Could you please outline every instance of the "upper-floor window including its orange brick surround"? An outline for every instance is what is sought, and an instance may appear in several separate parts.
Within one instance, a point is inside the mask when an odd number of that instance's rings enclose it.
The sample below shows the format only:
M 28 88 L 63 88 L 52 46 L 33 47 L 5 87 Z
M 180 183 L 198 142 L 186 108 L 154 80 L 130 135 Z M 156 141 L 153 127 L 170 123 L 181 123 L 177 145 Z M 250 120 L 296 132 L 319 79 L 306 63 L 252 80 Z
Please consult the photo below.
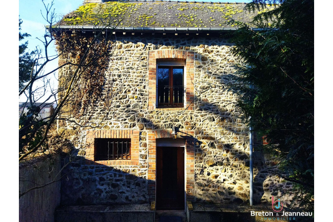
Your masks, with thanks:
M 194 52 L 162 49 L 148 55 L 148 110 L 193 110 Z

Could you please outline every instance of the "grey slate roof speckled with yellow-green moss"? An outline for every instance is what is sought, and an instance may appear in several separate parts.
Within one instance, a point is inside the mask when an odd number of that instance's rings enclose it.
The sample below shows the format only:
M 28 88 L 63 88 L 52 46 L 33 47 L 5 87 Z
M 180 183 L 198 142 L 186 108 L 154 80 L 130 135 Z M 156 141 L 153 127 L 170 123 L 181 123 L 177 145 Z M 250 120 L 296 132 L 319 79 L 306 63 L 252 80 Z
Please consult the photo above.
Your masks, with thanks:
M 250 22 L 255 13 L 245 3 L 196 1 L 105 1 L 85 0 L 57 24 L 62 26 L 118 27 L 217 27 L 236 28 L 231 19 Z

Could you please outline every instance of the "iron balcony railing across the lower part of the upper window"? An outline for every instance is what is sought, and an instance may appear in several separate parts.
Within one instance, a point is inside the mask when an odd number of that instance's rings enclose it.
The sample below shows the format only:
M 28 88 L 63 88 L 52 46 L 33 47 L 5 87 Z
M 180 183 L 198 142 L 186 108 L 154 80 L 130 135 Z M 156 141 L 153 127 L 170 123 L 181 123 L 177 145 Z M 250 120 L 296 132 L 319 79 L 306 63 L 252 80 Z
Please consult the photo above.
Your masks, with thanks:
M 157 87 L 159 107 L 182 107 L 184 105 L 184 86 Z

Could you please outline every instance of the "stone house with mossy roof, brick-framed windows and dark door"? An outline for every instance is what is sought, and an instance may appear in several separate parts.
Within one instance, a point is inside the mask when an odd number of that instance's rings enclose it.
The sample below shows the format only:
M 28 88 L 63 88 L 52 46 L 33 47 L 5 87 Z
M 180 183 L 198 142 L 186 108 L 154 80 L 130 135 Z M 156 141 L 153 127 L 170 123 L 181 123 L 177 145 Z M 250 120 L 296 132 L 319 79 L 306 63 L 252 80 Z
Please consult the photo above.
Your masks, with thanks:
M 62 181 L 63 205 L 249 203 L 249 128 L 235 107 L 237 94 L 228 90 L 237 60 L 229 41 L 236 27 L 228 20 L 250 21 L 243 7 L 85 0 L 65 16 L 62 30 L 90 34 L 98 28 L 92 15 L 122 20 L 112 29 L 115 50 L 101 98 L 63 126 L 75 129 L 77 148 L 84 147 Z M 64 67 L 60 75 L 68 72 Z M 104 106 L 108 92 L 116 93 Z M 254 200 L 270 203 L 291 184 L 269 173 L 272 159 L 254 157 Z

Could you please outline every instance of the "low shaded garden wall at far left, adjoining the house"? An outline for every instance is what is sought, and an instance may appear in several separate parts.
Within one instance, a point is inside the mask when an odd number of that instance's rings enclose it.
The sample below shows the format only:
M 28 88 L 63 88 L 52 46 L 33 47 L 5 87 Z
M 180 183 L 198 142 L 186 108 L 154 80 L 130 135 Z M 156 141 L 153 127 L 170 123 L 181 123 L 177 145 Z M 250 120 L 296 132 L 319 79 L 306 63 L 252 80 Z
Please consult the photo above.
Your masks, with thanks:
M 19 167 L 19 193 L 52 182 L 61 170 L 60 157 Z M 28 192 L 19 198 L 20 222 L 53 222 L 60 204 L 60 177 L 55 183 Z

